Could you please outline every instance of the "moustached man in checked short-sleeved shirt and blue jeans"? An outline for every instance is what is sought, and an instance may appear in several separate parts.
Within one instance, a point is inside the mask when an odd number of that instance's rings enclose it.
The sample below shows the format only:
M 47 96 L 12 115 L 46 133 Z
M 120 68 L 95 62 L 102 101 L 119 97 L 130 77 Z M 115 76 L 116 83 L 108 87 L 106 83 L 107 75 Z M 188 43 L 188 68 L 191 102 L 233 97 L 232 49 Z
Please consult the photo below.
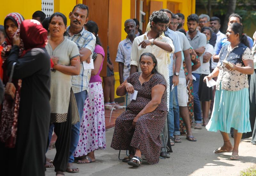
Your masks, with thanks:
M 72 89 L 75 93 L 76 104 L 80 116 L 80 121 L 83 116 L 84 101 L 87 98 L 88 84 L 91 78 L 91 69 L 84 69 L 84 61 L 90 63 L 92 59 L 92 53 L 95 48 L 96 38 L 95 36 L 86 30 L 84 25 L 88 22 L 88 6 L 84 4 L 77 4 L 72 12 L 69 13 L 70 26 L 67 28 L 69 40 L 76 43 L 80 53 L 80 74 L 72 76 Z M 79 140 L 80 122 L 72 125 L 71 128 L 71 143 L 69 150 L 69 160 L 67 166 L 67 172 L 75 173 L 79 172 L 77 167 L 73 166 L 74 152 Z

